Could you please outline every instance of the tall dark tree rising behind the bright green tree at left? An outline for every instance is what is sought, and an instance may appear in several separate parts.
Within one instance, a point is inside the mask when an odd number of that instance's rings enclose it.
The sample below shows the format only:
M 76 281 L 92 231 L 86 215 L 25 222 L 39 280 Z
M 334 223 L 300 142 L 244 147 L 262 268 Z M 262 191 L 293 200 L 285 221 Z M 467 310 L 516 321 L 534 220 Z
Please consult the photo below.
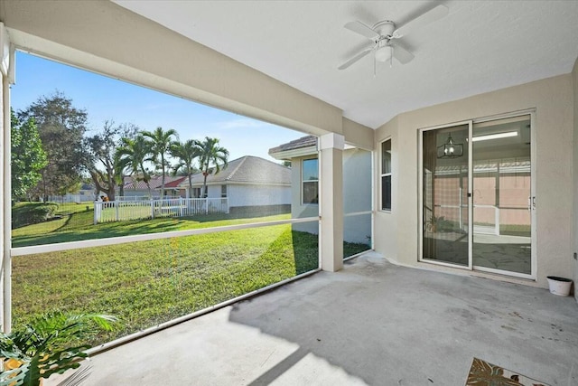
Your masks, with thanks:
M 85 165 L 82 145 L 87 112 L 74 108 L 72 99 L 56 91 L 49 97 L 39 98 L 16 116 L 22 122 L 34 119 L 47 155 L 48 162 L 42 168 L 35 193 L 46 201 L 51 194 L 70 191 L 81 180 Z

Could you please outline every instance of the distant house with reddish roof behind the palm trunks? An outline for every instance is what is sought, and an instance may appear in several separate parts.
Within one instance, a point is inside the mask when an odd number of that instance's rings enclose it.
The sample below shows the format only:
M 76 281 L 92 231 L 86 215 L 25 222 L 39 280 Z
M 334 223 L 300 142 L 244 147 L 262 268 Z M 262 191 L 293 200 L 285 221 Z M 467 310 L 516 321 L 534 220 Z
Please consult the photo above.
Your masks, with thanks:
M 164 176 L 164 195 L 169 197 L 175 196 L 182 196 L 185 197 L 185 192 L 179 187 L 179 184 L 182 181 L 186 180 L 186 176 Z M 154 175 L 151 177 L 151 180 L 148 182 L 151 190 L 149 192 L 149 187 L 144 183 L 144 181 L 131 176 L 125 177 L 125 186 L 124 186 L 124 197 L 131 198 L 131 199 L 145 199 L 148 200 L 149 194 L 153 196 L 153 198 L 159 198 L 161 195 L 161 188 L 163 186 L 163 177 L 161 175 Z M 118 190 L 117 190 L 118 195 Z

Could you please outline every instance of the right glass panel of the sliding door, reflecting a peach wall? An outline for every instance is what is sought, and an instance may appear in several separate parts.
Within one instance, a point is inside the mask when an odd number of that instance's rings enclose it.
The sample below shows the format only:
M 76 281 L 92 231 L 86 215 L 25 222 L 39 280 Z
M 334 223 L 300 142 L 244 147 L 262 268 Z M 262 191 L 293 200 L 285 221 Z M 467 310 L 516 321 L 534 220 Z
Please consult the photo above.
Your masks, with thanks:
M 474 123 L 475 268 L 532 274 L 530 116 Z

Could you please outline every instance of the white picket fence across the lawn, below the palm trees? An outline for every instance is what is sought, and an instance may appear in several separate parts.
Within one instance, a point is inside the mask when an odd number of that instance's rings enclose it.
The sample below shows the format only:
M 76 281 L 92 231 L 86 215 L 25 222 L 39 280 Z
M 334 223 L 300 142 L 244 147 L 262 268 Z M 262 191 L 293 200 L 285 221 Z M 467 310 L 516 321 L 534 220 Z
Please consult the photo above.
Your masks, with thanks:
M 189 217 L 199 214 L 228 213 L 227 198 L 172 198 L 140 201 L 96 201 L 94 223 Z

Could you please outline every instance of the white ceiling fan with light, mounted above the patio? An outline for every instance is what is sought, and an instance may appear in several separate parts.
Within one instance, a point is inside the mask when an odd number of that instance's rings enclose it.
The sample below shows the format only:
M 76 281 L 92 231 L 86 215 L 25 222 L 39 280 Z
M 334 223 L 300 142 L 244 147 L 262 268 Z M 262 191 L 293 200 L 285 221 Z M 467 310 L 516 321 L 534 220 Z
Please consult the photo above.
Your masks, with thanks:
M 445 5 L 437 5 L 433 9 L 420 14 L 415 17 L 415 19 L 410 20 L 406 24 L 396 29 L 396 24 L 390 20 L 383 20 L 374 24 L 373 27 L 368 27 L 368 25 L 361 22 L 355 21 L 345 24 L 344 27 L 354 33 L 359 33 L 367 37 L 373 43 L 359 52 L 349 61 L 341 64 L 338 67 L 339 70 L 345 70 L 350 67 L 351 64 L 359 61 L 364 56 L 368 55 L 369 52 L 374 52 L 374 65 L 375 61 L 392 61 L 392 58 L 396 58 L 397 61 L 402 64 L 414 59 L 414 54 L 407 51 L 401 45 L 396 43 L 396 39 L 400 39 L 407 33 L 418 30 L 427 24 L 433 23 L 434 21 L 443 18 L 449 12 L 448 7 Z M 375 69 L 375 67 L 374 67 Z

